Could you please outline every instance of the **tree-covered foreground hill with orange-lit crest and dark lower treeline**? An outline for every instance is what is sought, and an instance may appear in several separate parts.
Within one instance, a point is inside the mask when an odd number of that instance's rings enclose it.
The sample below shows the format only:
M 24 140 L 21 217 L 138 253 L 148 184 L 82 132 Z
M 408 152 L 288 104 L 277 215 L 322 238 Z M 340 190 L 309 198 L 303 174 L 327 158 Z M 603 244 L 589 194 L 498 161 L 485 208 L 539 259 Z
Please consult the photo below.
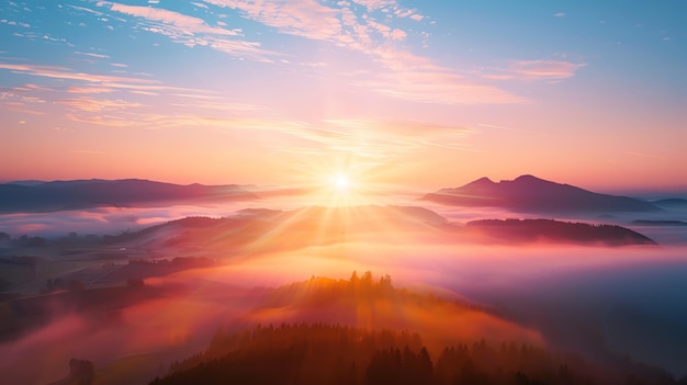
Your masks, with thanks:
M 549 351 L 523 341 L 522 329 L 498 337 L 495 324 L 475 329 L 480 321 L 464 315 L 482 310 L 395 288 L 390 276 L 379 283 L 369 273 L 349 281 L 313 278 L 266 294 L 269 301 L 256 312 L 303 312 L 307 306 L 318 317 L 217 331 L 207 349 L 172 363 L 166 376 L 150 384 L 676 384 L 660 369 L 612 354 L 592 362 Z M 386 312 L 413 322 L 319 320 L 340 307 L 358 314 Z M 437 327 L 444 317 L 454 327 Z M 452 336 L 460 329 L 472 332 Z M 431 333 L 436 336 L 426 338 Z

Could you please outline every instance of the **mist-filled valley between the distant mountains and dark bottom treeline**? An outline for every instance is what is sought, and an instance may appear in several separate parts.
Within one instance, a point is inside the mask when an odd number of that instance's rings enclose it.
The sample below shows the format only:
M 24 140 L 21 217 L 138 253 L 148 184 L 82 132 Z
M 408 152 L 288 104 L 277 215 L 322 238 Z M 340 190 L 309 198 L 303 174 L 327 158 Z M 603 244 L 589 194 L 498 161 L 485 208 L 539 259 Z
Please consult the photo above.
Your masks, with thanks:
M 644 225 L 646 237 L 631 226 L 637 213 L 542 217 L 401 195 L 294 207 L 281 199 L 3 215 L 13 234 L 1 249 L 2 372 L 12 383 L 76 381 L 77 359 L 92 365 L 94 384 L 146 384 L 194 367 L 179 363 L 211 354 L 217 332 L 339 325 L 417 333 L 433 364 L 451 346 L 514 343 L 544 349 L 559 366 L 578 356 L 600 367 L 584 374 L 596 382 L 687 374 L 679 226 Z M 369 369 L 372 352 L 361 354 Z M 370 383 L 365 373 L 357 381 Z M 530 380 L 555 382 L 542 373 Z

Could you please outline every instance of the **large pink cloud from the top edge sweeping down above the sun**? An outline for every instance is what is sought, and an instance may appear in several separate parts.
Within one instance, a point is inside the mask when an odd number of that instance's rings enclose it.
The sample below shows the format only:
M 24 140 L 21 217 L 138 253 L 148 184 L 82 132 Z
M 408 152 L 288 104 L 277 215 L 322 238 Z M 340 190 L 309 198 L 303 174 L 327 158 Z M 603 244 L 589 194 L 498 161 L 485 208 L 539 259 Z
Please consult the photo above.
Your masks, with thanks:
M 436 65 L 397 44 L 408 33 L 391 27 L 371 14 L 357 14 L 352 4 L 339 1 L 340 8 L 306 1 L 205 0 L 207 3 L 236 9 L 244 16 L 278 29 L 280 33 L 329 42 L 367 55 L 380 66 L 376 70 L 353 77 L 351 83 L 386 97 L 441 104 L 516 103 L 522 98 L 496 87 L 469 81 L 451 69 Z M 388 9 L 390 14 L 421 20 L 393 0 L 356 1 L 368 12 Z

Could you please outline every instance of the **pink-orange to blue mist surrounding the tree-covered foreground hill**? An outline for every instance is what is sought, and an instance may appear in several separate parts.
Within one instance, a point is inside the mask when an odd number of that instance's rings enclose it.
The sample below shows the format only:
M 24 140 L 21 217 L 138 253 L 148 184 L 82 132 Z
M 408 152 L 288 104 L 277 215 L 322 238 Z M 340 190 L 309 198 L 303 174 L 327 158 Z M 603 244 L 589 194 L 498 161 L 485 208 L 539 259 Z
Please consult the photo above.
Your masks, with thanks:
M 687 373 L 686 248 L 465 247 L 417 239 L 251 254 L 212 269 L 149 279 L 146 286 L 166 288 L 165 295 L 114 315 L 55 318 L 0 346 L 0 355 L 7 358 L 1 371 L 13 383 L 40 384 L 65 376 L 69 359 L 76 356 L 91 360 L 120 383 L 140 375 L 151 378 L 164 374 L 171 361 L 204 349 L 218 329 L 331 321 L 331 314 L 291 305 L 259 317 L 255 312 L 266 287 L 313 275 L 348 279 L 353 271 L 372 271 L 375 279 L 390 274 L 395 287 L 470 304 L 506 322 L 496 328 L 500 324 L 494 318 L 491 329 L 474 329 L 488 326 L 485 318 L 415 317 L 415 324 L 404 327 L 429 325 L 447 336 L 473 328 L 475 338 L 487 339 L 506 339 L 508 332 L 514 340 L 538 335 L 551 349 L 597 359 L 608 350 L 676 376 Z M 354 326 L 370 326 L 362 316 L 349 322 L 356 319 L 362 325 Z

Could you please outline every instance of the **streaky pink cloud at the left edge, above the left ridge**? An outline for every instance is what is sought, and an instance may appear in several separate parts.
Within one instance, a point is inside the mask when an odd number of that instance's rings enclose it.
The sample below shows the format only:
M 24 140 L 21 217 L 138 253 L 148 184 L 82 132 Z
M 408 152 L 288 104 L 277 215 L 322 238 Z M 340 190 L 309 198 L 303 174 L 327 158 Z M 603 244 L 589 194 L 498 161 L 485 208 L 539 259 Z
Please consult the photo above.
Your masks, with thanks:
M 29 64 L 0 63 L 0 70 L 59 80 L 7 89 L 0 93 L 0 109 L 29 114 L 45 114 L 49 110 L 70 121 L 103 126 L 164 128 L 191 123 L 212 126 L 210 120 L 180 118 L 180 115 L 202 109 L 239 116 L 258 110 L 255 105 L 236 103 L 210 91 L 170 87 L 147 77 L 86 73 L 65 67 Z M 70 80 L 72 86 L 65 87 L 63 80 Z M 105 94 L 110 97 L 103 98 Z M 160 111 L 160 97 L 177 109 L 176 115 L 165 115 Z M 174 118 L 179 122 L 173 122 Z

